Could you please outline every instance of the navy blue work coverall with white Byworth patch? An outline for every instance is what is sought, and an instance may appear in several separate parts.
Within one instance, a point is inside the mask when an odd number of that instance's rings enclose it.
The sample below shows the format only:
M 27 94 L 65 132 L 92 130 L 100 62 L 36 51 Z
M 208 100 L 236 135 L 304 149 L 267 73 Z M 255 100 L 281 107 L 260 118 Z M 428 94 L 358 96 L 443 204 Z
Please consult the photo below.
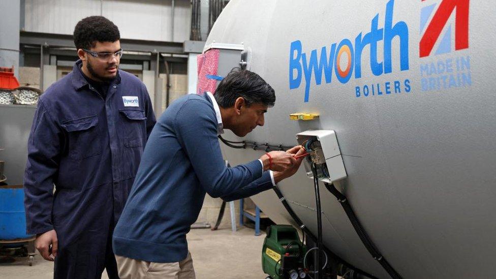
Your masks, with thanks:
M 24 175 L 28 234 L 55 229 L 54 278 L 118 278 L 112 232 L 156 119 L 145 85 L 118 71 L 106 94 L 73 71 L 41 96 Z M 53 187 L 55 186 L 55 193 Z

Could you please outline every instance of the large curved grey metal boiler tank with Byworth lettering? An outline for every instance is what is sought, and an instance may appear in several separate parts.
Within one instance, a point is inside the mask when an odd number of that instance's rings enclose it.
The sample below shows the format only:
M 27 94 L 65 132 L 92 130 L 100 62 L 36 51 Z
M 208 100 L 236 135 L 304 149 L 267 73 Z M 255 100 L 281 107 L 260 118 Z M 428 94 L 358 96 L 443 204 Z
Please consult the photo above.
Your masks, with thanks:
M 338 189 L 402 277 L 490 278 L 496 274 L 494 14 L 496 2 L 476 0 L 232 0 L 207 45 L 242 43 L 249 69 L 275 89 L 265 126 L 245 139 L 296 145 L 302 131 L 335 131 L 348 174 Z M 295 112 L 320 118 L 290 120 Z M 222 148 L 231 165 L 262 154 Z M 301 168 L 279 187 L 316 234 L 312 179 Z M 387 278 L 322 183 L 320 193 L 324 244 Z M 253 200 L 273 221 L 291 223 L 273 191 Z

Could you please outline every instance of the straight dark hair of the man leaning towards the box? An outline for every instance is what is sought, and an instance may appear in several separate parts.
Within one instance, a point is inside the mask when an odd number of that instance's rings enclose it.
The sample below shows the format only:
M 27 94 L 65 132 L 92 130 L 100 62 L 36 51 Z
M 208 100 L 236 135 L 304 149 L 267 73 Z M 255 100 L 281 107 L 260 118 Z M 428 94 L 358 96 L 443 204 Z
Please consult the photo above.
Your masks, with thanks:
M 264 104 L 272 107 L 275 92 L 259 75 L 248 70 L 234 68 L 215 89 L 215 100 L 222 108 L 230 108 L 242 97 L 247 106 Z

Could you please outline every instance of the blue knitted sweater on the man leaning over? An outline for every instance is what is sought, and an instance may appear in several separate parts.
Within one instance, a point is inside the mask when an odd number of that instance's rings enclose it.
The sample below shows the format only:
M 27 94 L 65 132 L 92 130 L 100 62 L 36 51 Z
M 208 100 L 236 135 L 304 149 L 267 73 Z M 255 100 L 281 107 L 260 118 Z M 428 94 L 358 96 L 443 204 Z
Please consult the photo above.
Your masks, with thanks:
M 272 187 L 268 171 L 254 160 L 227 168 L 217 138 L 210 98 L 175 101 L 153 128 L 126 206 L 113 234 L 114 253 L 149 262 L 186 258 L 186 234 L 205 194 L 235 200 Z

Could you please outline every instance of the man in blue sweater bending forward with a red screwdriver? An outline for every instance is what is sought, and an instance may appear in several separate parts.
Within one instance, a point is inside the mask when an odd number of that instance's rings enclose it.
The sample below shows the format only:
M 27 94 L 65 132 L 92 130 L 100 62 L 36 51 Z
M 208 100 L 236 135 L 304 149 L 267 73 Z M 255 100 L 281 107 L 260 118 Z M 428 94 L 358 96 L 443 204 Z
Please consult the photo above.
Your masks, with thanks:
M 303 158 L 295 155 L 305 152 L 299 145 L 234 168 L 223 160 L 217 137 L 223 129 L 245 136 L 264 125 L 274 103 L 272 87 L 241 70 L 226 76 L 215 97 L 187 95 L 167 108 L 150 134 L 113 234 L 121 279 L 195 278 L 186 234 L 205 194 L 226 201 L 249 197 L 298 170 Z

